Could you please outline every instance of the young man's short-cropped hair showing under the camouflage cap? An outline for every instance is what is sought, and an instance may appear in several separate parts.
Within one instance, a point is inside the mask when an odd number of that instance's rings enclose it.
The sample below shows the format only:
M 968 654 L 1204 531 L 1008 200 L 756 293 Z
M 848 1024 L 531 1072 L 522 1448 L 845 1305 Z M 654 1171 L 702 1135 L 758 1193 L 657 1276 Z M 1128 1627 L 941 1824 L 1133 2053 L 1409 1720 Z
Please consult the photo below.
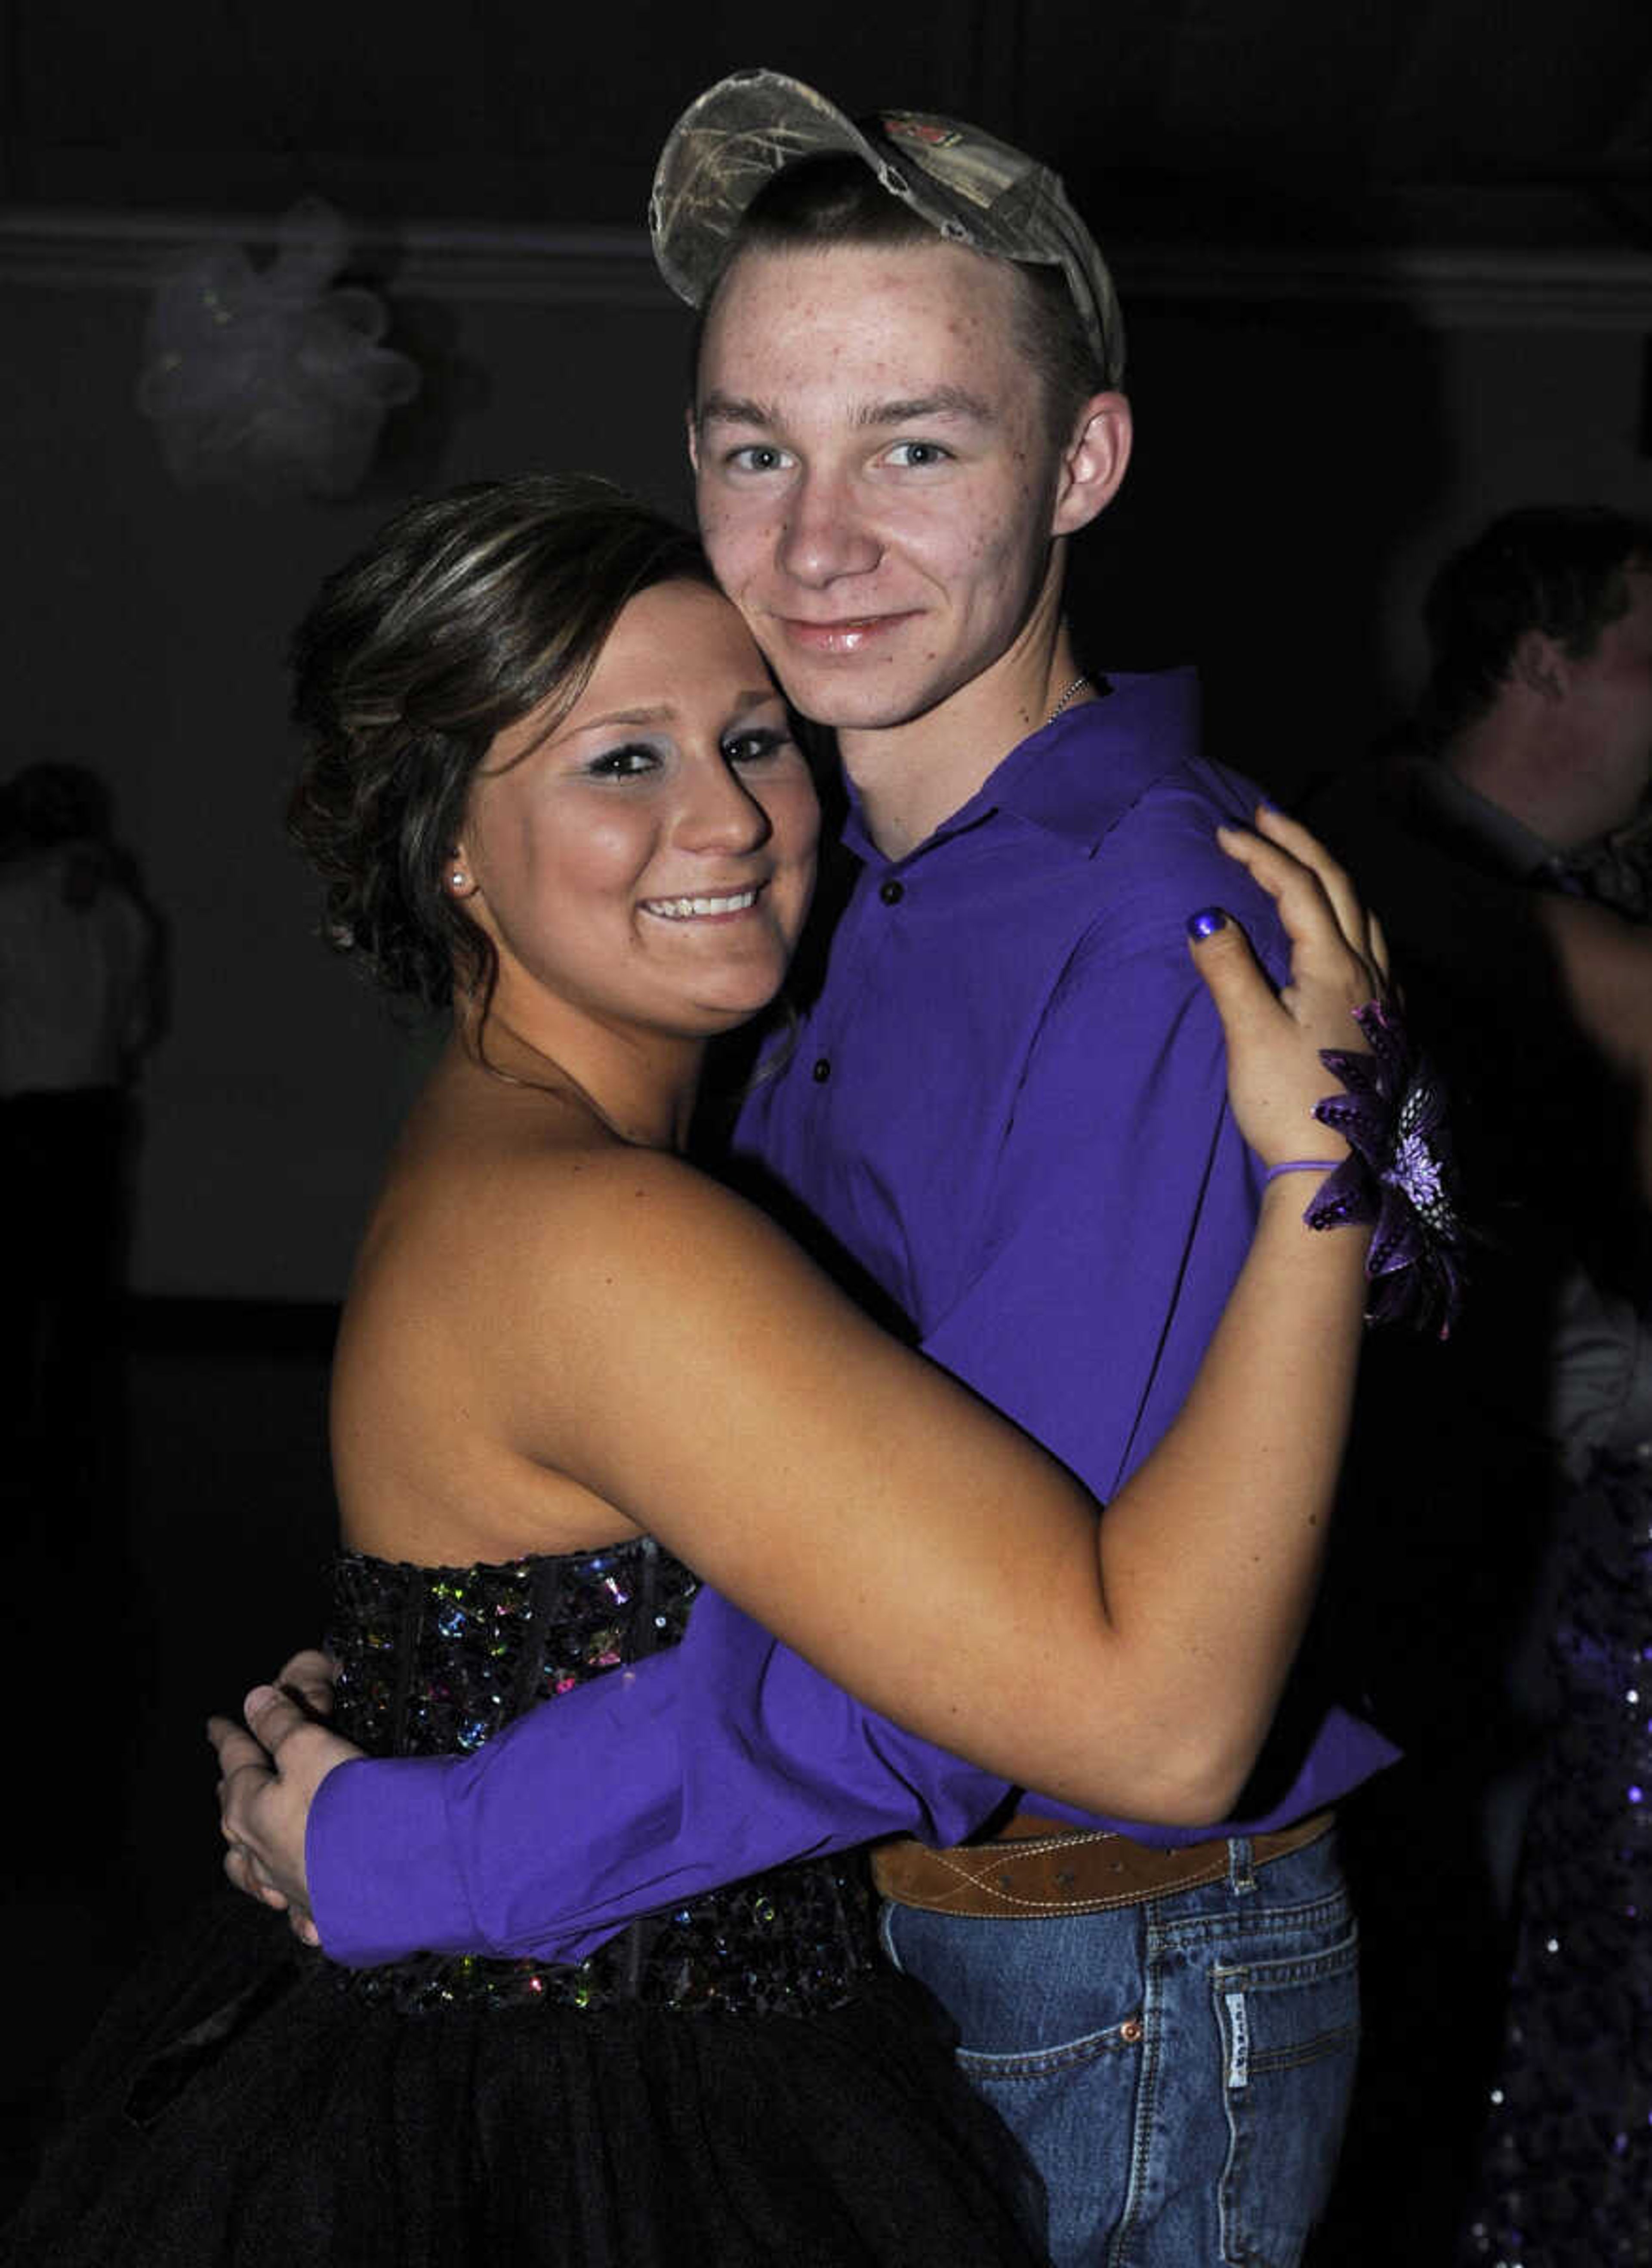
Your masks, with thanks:
M 860 159 L 810 156 L 776 172 L 751 200 L 728 247 L 717 290 L 742 252 L 937 243 L 942 243 L 937 231 L 910 204 L 880 188 Z M 989 259 L 989 254 L 976 256 Z M 1107 374 L 1078 320 L 1062 270 L 1035 261 L 1003 261 L 1003 265 L 1017 279 L 1017 347 L 1039 374 L 1051 440 L 1064 447 L 1080 406 L 1107 390 Z M 694 324 L 694 372 L 717 290 Z

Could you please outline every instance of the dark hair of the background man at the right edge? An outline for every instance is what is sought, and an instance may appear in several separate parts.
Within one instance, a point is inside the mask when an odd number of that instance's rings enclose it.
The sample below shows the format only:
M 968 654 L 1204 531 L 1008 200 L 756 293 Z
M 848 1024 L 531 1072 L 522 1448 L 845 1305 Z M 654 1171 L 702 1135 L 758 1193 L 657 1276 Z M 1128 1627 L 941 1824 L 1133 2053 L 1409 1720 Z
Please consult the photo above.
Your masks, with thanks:
M 1527 631 L 1582 660 L 1629 610 L 1629 569 L 1652 569 L 1652 522 L 1593 503 L 1532 503 L 1493 519 L 1434 576 L 1423 601 L 1430 680 L 1423 726 L 1439 744 L 1493 705 Z

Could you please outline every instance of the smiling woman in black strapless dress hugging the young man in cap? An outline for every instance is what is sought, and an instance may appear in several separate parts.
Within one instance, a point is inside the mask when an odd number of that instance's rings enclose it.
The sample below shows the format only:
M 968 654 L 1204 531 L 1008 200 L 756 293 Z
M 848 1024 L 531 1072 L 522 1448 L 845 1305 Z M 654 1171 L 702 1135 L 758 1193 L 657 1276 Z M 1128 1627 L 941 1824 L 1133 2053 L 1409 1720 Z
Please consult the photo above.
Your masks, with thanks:
M 817 830 L 692 540 L 590 481 L 415 506 L 304 621 L 297 717 L 336 941 L 454 1012 L 338 1345 L 340 1730 L 474 1746 L 669 1644 L 701 1576 L 1017 1783 L 1219 1814 L 1312 1597 L 1364 1234 L 1268 1186 L 1182 1417 L 1098 1522 L 681 1157 L 708 1039 L 781 991 Z M 1234 1109 L 1264 1161 L 1330 1159 L 1318 1050 L 1359 1046 L 1380 955 L 1334 869 L 1232 850 L 1293 941 L 1278 1000 L 1232 928 L 1194 948 Z M 340 1971 L 225 1903 L 104 2025 L 14 2257 L 1037 2257 L 851 1860 L 579 1969 Z

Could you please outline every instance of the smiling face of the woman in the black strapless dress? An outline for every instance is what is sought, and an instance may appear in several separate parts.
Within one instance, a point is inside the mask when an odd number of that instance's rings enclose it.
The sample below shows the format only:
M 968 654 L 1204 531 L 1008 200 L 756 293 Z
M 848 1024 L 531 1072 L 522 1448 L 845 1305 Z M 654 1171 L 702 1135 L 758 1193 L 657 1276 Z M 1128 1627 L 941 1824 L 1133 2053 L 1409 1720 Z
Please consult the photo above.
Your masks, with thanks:
M 524 1030 L 572 1005 L 703 1039 L 767 1007 L 815 875 L 803 751 L 740 615 L 706 583 L 620 612 L 560 719 L 497 737 L 470 798 L 467 912 Z

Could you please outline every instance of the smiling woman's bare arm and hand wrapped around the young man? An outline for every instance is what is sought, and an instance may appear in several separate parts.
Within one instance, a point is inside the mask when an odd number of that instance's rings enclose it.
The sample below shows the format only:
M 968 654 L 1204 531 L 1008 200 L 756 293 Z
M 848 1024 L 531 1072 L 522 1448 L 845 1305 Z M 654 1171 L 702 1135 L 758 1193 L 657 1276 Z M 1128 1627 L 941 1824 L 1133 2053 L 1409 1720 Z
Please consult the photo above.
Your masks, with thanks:
M 1309 1109 L 1318 1048 L 1359 1046 L 1364 923 L 1352 950 L 1312 869 L 1244 857 L 1296 964 L 1275 1000 L 1237 930 L 1194 948 L 1234 1105 L 1264 1157 L 1332 1157 Z M 658 1154 L 563 1182 L 526 1241 L 502 1191 L 526 1329 L 488 1424 L 924 1737 L 1078 1803 L 1216 1817 L 1312 1599 L 1359 1338 L 1362 1236 L 1307 1232 L 1312 1186 L 1271 1188 L 1198 1388 L 1101 1529 L 1044 1452 Z

